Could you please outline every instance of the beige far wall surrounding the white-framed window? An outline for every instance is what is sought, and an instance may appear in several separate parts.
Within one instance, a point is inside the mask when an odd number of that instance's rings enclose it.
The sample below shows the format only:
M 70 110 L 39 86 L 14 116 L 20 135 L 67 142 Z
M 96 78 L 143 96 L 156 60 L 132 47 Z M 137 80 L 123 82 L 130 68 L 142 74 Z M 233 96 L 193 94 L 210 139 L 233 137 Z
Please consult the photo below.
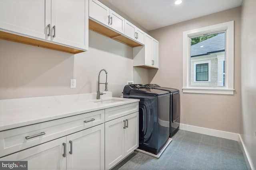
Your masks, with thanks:
M 241 43 L 240 7 L 150 31 L 159 41 L 159 69 L 149 71 L 149 81 L 180 90 L 180 123 L 240 133 Z M 182 93 L 183 31 L 234 20 L 234 95 Z

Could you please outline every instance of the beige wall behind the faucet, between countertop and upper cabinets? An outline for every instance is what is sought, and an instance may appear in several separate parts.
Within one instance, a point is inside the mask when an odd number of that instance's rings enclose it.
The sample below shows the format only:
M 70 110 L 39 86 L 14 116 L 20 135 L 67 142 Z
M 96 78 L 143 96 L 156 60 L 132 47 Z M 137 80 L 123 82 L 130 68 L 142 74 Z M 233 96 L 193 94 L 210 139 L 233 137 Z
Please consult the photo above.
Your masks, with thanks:
M 102 68 L 108 71 L 108 90 L 120 97 L 134 76 L 147 83 L 148 72 L 133 69 L 132 62 L 131 47 L 93 31 L 89 50 L 76 55 L 0 40 L 0 99 L 96 92 Z M 70 88 L 70 79 L 76 79 L 76 88 Z

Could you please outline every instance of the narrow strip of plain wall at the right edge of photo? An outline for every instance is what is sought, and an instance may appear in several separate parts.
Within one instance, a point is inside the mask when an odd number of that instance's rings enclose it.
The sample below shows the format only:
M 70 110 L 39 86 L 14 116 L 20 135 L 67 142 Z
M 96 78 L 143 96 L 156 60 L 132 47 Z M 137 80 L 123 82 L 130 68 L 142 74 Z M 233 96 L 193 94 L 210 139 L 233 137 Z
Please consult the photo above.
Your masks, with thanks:
M 242 114 L 241 137 L 256 169 L 256 0 L 242 4 Z

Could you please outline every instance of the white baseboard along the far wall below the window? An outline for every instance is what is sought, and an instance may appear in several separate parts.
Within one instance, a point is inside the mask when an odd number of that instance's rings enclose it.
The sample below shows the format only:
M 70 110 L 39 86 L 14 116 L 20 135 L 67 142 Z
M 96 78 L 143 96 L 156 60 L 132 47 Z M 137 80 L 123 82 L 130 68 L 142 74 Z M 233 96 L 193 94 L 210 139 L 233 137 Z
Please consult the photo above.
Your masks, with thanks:
M 192 125 L 185 125 L 182 123 L 180 123 L 180 129 L 185 130 L 185 131 L 201 133 L 204 135 L 210 135 L 210 136 L 215 136 L 215 137 L 221 137 L 224 139 L 231 139 L 234 141 L 239 141 L 238 133 L 219 131 L 219 130 L 215 130 L 215 129 L 208 129 L 208 128 L 192 126 Z

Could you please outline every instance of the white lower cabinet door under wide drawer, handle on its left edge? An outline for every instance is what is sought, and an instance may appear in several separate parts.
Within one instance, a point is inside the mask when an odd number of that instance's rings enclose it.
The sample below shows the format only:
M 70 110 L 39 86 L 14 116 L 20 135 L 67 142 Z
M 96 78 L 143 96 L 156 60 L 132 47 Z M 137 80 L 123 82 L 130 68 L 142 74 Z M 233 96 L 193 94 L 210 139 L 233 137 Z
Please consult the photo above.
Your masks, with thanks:
M 68 135 L 68 170 L 104 170 L 104 124 Z

